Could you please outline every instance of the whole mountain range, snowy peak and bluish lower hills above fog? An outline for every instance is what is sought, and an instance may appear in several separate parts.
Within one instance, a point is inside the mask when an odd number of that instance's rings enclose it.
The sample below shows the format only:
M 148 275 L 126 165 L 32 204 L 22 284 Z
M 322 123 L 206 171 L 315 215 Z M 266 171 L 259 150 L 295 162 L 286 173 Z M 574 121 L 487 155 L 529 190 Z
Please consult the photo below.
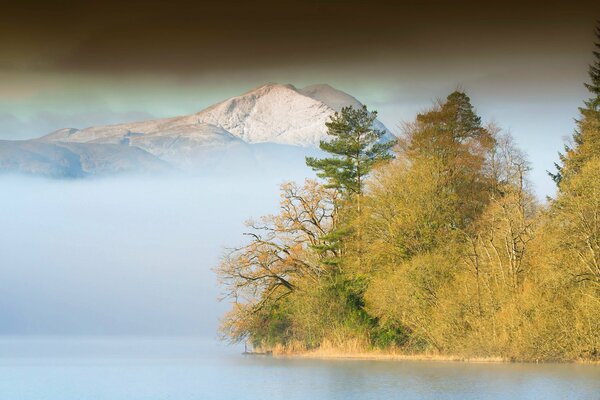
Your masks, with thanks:
M 0 171 L 47 176 L 194 171 L 227 168 L 232 160 L 272 167 L 267 144 L 285 145 L 282 153 L 302 153 L 294 147 L 310 151 L 327 138 L 325 122 L 348 105 L 361 103 L 326 84 L 297 89 L 269 83 L 192 115 L 0 141 Z M 376 127 L 387 131 L 379 121 Z

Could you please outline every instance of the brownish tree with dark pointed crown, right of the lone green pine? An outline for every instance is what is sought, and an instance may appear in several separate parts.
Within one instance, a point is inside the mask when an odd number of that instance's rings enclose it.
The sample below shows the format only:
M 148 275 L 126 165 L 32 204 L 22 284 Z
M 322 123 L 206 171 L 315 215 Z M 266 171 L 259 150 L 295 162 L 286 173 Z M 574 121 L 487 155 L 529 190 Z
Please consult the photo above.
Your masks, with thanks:
M 486 160 L 495 145 L 494 133 L 482 125 L 469 96 L 460 91 L 417 115 L 401 141 L 410 165 L 435 168 L 443 193 L 457 199 L 456 214 L 448 222 L 460 229 L 477 218 L 489 200 L 493 182 L 486 174 Z

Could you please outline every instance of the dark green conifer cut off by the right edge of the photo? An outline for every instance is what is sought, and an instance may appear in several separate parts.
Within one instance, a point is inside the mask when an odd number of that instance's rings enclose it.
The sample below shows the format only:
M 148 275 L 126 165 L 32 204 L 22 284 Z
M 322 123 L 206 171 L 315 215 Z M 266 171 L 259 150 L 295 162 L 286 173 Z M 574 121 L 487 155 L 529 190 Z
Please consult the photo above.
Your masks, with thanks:
M 557 172 L 549 173 L 559 188 L 561 182 L 577 174 L 587 161 L 600 154 L 600 23 L 596 27 L 596 38 L 594 61 L 588 71 L 590 83 L 584 84 L 592 96 L 579 108 L 581 116 L 576 121 L 572 146 L 565 146 L 565 152 L 559 154 L 560 162 L 554 164 Z

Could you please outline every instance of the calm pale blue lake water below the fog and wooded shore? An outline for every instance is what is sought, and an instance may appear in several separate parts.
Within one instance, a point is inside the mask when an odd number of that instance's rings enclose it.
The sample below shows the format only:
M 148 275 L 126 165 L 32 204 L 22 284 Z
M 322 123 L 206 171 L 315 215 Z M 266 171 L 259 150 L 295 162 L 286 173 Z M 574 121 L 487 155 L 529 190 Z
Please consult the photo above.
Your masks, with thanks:
M 0 399 L 600 399 L 600 366 L 244 357 L 211 340 L 0 339 Z

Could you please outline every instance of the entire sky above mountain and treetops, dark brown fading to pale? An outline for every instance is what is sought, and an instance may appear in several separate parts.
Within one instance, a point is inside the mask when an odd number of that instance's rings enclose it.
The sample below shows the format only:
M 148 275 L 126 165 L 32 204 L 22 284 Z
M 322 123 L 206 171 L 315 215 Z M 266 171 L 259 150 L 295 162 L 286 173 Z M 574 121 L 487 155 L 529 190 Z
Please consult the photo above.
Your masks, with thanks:
M 398 131 L 457 87 L 529 154 L 574 129 L 600 1 L 45 1 L 0 9 L 0 139 L 197 112 L 328 83 Z

